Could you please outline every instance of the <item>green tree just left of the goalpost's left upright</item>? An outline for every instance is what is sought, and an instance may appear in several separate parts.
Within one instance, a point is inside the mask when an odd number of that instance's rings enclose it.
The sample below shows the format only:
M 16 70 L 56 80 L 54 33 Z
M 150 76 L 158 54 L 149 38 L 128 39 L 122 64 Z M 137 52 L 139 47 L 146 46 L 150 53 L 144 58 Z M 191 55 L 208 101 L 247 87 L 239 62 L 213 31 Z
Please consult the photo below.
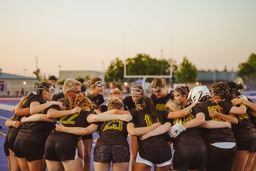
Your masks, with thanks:
M 124 80 L 124 64 L 119 58 L 112 61 L 107 69 L 105 79 L 106 82 L 110 81 L 123 81 Z

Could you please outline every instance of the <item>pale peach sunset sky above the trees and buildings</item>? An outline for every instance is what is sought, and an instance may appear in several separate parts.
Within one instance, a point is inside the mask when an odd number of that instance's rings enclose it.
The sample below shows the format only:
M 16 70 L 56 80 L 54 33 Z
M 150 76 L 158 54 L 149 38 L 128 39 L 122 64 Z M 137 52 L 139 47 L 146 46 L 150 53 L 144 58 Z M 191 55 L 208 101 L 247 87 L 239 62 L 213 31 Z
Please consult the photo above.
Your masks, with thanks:
M 237 70 L 256 53 L 255 0 L 0 0 L 0 68 L 105 70 L 138 53 L 197 69 Z M 124 53 L 124 34 L 125 48 Z M 172 37 L 172 39 L 171 39 Z M 172 45 L 171 45 L 172 40 Z

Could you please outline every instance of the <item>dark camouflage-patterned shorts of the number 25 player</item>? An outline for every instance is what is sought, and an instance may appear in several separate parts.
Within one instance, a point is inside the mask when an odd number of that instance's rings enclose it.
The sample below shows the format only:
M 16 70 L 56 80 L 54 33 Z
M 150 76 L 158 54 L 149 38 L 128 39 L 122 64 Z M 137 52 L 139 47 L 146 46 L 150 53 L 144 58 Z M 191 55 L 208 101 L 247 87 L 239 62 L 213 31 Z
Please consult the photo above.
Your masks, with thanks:
M 123 163 L 130 161 L 130 150 L 123 145 L 102 145 L 94 149 L 94 162 Z

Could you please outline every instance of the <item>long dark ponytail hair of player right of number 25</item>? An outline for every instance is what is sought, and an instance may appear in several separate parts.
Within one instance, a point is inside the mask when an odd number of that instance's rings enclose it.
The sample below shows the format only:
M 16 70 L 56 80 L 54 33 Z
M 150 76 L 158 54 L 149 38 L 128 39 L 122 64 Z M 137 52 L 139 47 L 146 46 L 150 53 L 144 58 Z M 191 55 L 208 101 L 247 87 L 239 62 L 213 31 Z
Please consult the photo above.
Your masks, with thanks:
M 157 109 L 150 97 L 140 96 L 136 102 L 136 104 L 143 104 L 141 107 L 146 113 L 150 114 L 150 122 L 152 124 L 159 122 L 157 119 Z

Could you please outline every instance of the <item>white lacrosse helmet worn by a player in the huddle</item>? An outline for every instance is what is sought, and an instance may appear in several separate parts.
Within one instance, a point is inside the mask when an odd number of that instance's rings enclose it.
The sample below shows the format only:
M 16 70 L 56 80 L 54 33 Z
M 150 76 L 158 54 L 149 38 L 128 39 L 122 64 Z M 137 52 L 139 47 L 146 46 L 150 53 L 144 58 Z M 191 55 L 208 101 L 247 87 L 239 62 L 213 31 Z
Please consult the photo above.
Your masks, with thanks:
M 190 90 L 189 96 L 187 98 L 188 102 L 200 102 L 201 100 L 206 101 L 210 98 L 211 93 L 207 86 L 197 86 Z

